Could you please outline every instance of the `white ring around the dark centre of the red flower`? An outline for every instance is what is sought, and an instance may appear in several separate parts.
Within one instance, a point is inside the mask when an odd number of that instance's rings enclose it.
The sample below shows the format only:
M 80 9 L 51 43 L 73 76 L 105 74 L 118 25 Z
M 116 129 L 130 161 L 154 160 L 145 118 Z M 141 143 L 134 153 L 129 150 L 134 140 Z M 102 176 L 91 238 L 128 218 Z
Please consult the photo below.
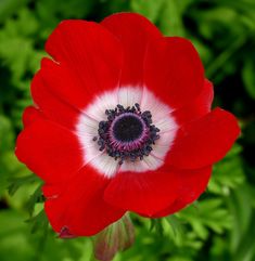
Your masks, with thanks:
M 106 120 L 105 109 L 114 109 L 117 104 L 124 107 L 140 104 L 141 112 L 150 110 L 153 125 L 161 131 L 161 138 L 152 146 L 153 151 L 142 160 L 118 160 L 109 156 L 106 152 L 100 152 L 99 145 L 93 141 L 98 136 L 99 122 Z M 103 92 L 89 104 L 80 114 L 76 126 L 76 134 L 80 143 L 85 165 L 89 164 L 100 174 L 113 178 L 118 171 L 145 172 L 156 170 L 164 165 L 166 154 L 170 149 L 176 136 L 178 125 L 170 116 L 173 109 L 162 103 L 151 91 L 141 87 L 122 87 L 113 91 Z

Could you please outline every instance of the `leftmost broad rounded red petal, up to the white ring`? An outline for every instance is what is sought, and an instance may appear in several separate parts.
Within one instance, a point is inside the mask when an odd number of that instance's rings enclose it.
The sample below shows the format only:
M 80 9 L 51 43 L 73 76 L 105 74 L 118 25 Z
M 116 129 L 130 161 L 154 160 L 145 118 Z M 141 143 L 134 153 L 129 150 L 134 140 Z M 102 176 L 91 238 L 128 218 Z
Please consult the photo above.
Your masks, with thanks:
M 15 154 L 49 183 L 68 180 L 84 164 L 77 138 L 48 120 L 37 120 L 18 135 Z

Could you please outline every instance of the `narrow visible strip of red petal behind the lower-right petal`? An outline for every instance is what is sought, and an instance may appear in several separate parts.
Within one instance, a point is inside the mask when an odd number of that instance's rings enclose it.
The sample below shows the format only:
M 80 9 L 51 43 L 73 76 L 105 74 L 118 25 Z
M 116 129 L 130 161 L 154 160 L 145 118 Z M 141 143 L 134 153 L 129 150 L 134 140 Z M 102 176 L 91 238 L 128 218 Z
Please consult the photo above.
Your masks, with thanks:
M 183 171 L 181 174 L 182 187 L 179 192 L 180 196 L 166 209 L 155 213 L 153 218 L 162 218 L 173 214 L 196 200 L 206 190 L 211 173 L 212 167 L 205 167 L 203 169 L 192 171 L 188 170 L 186 172 Z

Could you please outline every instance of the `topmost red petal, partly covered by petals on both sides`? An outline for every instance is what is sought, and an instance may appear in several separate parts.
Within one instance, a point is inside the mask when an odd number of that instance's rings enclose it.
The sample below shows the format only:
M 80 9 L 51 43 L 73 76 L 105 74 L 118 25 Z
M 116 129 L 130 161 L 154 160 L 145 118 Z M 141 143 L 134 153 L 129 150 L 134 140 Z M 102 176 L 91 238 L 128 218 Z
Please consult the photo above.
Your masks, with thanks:
M 101 24 L 117 36 L 124 47 L 125 64 L 120 84 L 142 83 L 148 42 L 162 38 L 158 29 L 149 19 L 135 13 L 113 14 Z

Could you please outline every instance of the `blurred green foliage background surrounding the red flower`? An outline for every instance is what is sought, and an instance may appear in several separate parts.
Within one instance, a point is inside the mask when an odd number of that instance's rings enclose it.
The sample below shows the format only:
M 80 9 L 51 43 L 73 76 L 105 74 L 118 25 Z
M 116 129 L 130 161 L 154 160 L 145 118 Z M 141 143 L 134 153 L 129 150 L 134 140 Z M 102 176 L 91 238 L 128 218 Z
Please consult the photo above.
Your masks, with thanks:
M 52 29 L 62 19 L 120 11 L 194 43 L 215 83 L 214 106 L 239 117 L 242 136 L 195 205 L 163 220 L 133 214 L 136 244 L 114 260 L 255 261 L 254 0 L 0 0 L 0 260 L 93 260 L 89 238 L 55 238 L 41 211 L 41 183 L 13 152 Z

